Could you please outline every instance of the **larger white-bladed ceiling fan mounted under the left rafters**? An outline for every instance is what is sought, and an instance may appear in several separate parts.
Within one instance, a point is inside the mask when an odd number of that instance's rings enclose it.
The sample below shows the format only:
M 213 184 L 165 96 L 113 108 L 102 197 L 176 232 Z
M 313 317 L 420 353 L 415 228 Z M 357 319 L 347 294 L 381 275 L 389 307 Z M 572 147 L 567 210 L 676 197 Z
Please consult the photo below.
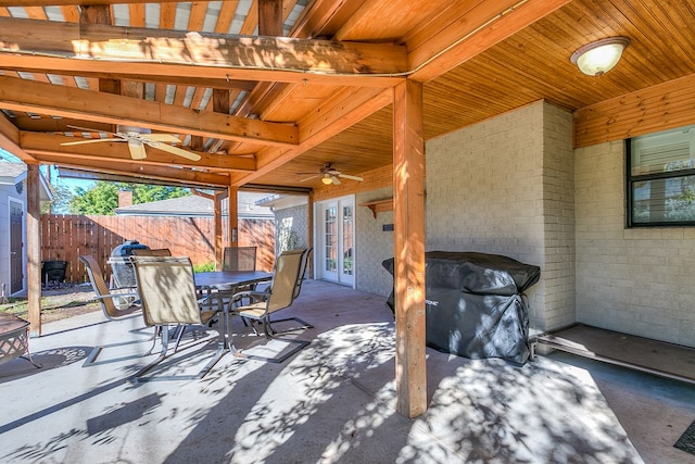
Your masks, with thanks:
M 73 129 L 86 130 L 90 133 L 101 133 L 103 130 L 90 129 L 88 127 L 77 127 L 77 126 L 68 126 Z M 88 139 L 88 140 L 79 140 L 79 141 L 66 141 L 61 143 L 62 146 L 68 145 L 81 145 L 81 143 L 97 143 L 101 141 L 127 141 L 128 149 L 130 150 L 130 158 L 134 160 L 144 160 L 147 158 L 147 152 L 144 151 L 144 146 L 156 148 L 157 150 L 167 151 L 172 154 L 176 154 L 178 156 L 186 158 L 187 160 L 198 161 L 200 160 L 200 154 L 193 153 L 178 147 L 174 147 L 168 143 L 180 143 L 178 137 L 173 136 L 170 134 L 152 134 L 150 129 L 146 129 L 142 127 L 134 127 L 134 126 L 116 126 L 115 133 L 113 134 L 116 138 L 99 138 L 99 139 Z

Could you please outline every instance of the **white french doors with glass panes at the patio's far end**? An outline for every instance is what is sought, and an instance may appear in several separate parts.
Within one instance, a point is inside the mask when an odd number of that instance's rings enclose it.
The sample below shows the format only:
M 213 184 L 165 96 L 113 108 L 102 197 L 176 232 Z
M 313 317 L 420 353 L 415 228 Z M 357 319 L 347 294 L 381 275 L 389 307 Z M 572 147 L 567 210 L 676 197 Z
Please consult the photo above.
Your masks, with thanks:
M 316 204 L 319 278 L 355 285 L 355 198 L 343 197 Z

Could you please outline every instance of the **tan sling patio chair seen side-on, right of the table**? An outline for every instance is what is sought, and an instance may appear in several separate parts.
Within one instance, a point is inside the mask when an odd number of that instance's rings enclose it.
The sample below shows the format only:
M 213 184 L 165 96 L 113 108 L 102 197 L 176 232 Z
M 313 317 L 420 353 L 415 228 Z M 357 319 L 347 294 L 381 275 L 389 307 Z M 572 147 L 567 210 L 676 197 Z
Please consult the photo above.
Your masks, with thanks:
M 298 285 L 301 280 L 300 271 L 302 269 L 302 262 L 306 259 L 308 254 L 308 250 L 306 249 L 298 249 L 291 251 L 282 252 L 277 261 L 275 266 L 275 272 L 273 274 L 273 281 L 270 283 L 270 287 L 266 292 L 250 292 L 250 291 L 241 291 L 233 296 L 232 298 L 232 310 L 229 312 L 230 315 L 239 315 L 242 319 L 256 321 L 263 325 L 263 331 L 268 339 L 280 339 L 277 337 L 277 334 L 270 323 L 270 317 L 287 308 L 292 305 L 294 301 L 295 294 L 299 294 Z M 254 297 L 258 298 L 258 296 L 263 296 L 263 299 L 256 301 L 255 303 L 251 303 L 248 305 L 239 305 L 242 298 L 245 297 Z M 287 317 L 282 319 L 273 321 L 274 323 L 285 322 L 285 321 L 296 321 L 302 324 L 301 327 L 293 328 L 292 330 L 296 330 L 299 328 L 313 328 L 313 326 L 299 317 Z M 227 327 L 229 324 L 227 323 Z M 252 325 L 253 327 L 253 325 Z M 253 330 L 258 335 L 255 327 Z M 286 330 L 289 331 L 289 330 Z M 279 358 L 262 358 L 255 355 L 245 355 L 247 358 L 256 359 L 261 361 L 268 361 L 274 363 L 281 363 L 289 356 L 293 355 L 299 350 L 303 349 L 309 341 L 306 340 L 298 340 L 298 339 L 281 339 L 283 341 L 296 344 L 295 348 L 287 352 L 286 354 Z

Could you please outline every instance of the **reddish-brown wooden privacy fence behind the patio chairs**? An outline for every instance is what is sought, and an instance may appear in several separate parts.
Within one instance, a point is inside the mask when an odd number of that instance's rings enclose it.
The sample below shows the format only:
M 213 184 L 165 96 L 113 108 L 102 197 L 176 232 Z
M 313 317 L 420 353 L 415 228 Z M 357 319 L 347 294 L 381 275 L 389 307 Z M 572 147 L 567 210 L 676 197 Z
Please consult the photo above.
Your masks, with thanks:
M 227 239 L 225 227 L 224 240 Z M 190 256 L 194 265 L 215 262 L 215 221 L 212 217 L 41 215 L 41 261 L 67 261 L 65 281 L 89 280 L 80 254 L 91 254 L 106 279 L 114 248 L 137 240 L 150 248 L 168 248 Z M 256 267 L 273 271 L 275 224 L 271 220 L 239 220 L 239 246 L 257 247 Z

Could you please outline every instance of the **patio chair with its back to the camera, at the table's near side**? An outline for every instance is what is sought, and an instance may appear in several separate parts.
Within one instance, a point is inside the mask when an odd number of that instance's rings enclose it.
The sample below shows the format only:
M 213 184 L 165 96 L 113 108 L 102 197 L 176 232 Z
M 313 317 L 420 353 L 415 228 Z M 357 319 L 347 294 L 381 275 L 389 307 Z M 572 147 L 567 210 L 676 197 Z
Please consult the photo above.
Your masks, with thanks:
M 177 341 L 173 350 L 173 352 L 176 352 L 186 327 L 206 327 L 210 321 L 219 311 L 223 311 L 222 298 L 216 293 L 201 299 L 198 298 L 193 279 L 193 265 L 189 258 L 131 256 L 130 260 L 134 264 L 138 284 L 144 324 L 149 327 L 161 328 L 162 343 L 162 350 L 156 360 L 138 371 L 132 376 L 132 379 L 146 381 L 153 379 L 203 378 L 226 352 L 224 329 L 219 330 L 217 351 L 198 374 L 162 377 L 144 377 L 144 374 L 168 356 L 172 335 L 170 326 L 174 326 L 178 331 Z M 189 344 L 189 347 L 210 339 L 207 337 L 198 340 Z

